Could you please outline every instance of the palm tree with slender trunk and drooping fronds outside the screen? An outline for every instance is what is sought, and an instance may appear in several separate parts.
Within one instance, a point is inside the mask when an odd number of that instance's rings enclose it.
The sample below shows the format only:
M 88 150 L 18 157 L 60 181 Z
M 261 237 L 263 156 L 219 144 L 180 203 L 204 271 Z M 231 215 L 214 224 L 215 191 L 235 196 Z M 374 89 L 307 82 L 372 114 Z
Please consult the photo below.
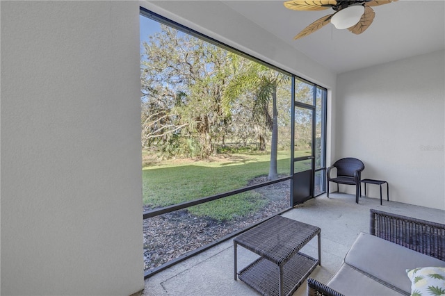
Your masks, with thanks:
M 223 92 L 223 110 L 229 115 L 233 101 L 243 94 L 253 94 L 252 117 L 254 121 L 264 126 L 264 129 L 272 131 L 268 180 L 277 179 L 277 88 L 281 83 L 289 81 L 289 77 L 252 60 L 241 59 L 235 55 L 229 55 L 229 58 L 232 58 L 234 76 Z M 268 110 L 270 101 L 272 102 L 272 116 Z M 261 137 L 263 137 L 262 140 Z M 262 145 L 266 147 L 264 134 L 260 135 L 260 149 Z

